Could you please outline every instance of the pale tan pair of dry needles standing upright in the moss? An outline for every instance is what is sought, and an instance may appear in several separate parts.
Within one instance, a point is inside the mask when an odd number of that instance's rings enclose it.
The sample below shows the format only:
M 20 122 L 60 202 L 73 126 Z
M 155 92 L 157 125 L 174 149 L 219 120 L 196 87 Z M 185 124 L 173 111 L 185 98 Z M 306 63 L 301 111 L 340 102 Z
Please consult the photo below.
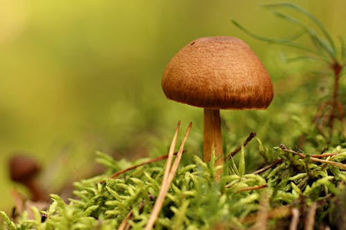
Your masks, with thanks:
M 174 164 L 172 166 L 173 153 L 174 153 L 174 148 L 176 145 L 176 137 L 178 135 L 179 126 L 180 126 L 180 122 L 178 124 L 178 127 L 176 128 L 176 133 L 174 135 L 172 144 L 170 146 L 170 152 L 168 153 L 167 163 L 165 165 L 165 174 L 163 175 L 161 189 L 158 193 L 158 197 L 156 198 L 156 202 L 154 204 L 152 214 L 150 215 L 147 225 L 145 226 L 145 230 L 150 230 L 153 228 L 156 218 L 158 217 L 158 213 L 160 213 L 161 211 L 163 202 L 165 200 L 165 196 L 168 192 L 168 189 L 170 188 L 170 184 L 172 183 L 176 169 L 178 169 L 179 162 L 181 160 L 181 155 L 183 154 L 183 147 L 186 140 L 188 139 L 188 135 L 190 133 L 192 123 L 190 123 L 188 126 L 188 130 L 185 133 L 185 137 L 183 138 L 183 142 L 181 142 L 181 146 L 179 148 L 178 154 L 176 155 L 176 159 L 174 160 Z

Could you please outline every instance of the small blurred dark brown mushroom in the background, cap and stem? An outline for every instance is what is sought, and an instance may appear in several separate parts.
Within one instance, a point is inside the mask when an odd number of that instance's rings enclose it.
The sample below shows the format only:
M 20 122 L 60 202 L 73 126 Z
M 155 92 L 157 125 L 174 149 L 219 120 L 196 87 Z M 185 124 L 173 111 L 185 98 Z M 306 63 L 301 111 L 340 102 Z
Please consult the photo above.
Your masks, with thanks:
M 41 170 L 37 162 L 26 155 L 14 155 L 10 158 L 10 178 L 23 184 L 31 193 L 31 200 L 48 200 L 47 193 L 38 186 L 35 177 Z

